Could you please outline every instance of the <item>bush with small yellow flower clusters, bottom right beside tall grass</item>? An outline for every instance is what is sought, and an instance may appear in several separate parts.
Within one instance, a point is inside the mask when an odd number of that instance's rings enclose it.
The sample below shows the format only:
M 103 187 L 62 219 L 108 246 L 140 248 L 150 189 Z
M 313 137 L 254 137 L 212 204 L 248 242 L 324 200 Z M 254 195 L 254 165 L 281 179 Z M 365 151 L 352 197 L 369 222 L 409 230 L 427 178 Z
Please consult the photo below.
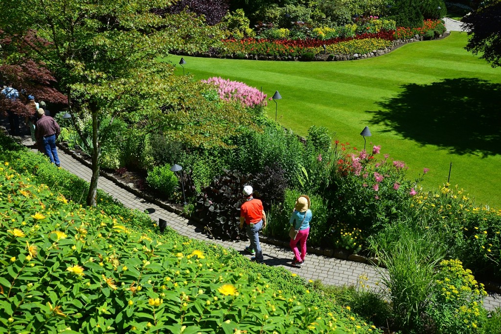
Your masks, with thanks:
M 426 314 L 433 320 L 437 334 L 481 333 L 481 305 L 487 295 L 471 270 L 459 260 L 443 260 L 437 268 Z

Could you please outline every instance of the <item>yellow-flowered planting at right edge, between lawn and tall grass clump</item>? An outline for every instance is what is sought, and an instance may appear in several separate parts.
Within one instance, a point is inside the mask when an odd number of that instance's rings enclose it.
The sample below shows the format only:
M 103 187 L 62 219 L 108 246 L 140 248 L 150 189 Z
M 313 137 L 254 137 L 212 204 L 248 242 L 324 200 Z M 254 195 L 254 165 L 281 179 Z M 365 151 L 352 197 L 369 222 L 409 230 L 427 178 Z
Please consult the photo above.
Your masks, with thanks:
M 501 210 L 477 206 L 463 189 L 448 184 L 417 194 L 413 202 L 413 219 L 447 246 L 448 256 L 475 275 L 501 274 Z

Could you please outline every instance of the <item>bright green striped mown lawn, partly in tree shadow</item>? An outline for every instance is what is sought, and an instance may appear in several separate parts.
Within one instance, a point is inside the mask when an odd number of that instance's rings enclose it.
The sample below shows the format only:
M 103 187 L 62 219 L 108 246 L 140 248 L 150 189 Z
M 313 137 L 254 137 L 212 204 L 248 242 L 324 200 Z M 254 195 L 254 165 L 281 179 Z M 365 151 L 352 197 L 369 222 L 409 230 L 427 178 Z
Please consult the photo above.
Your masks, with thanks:
M 464 50 L 465 32 L 414 42 L 386 55 L 341 62 L 283 62 L 184 57 L 195 78 L 221 76 L 279 90 L 278 120 L 305 135 L 315 124 L 340 141 L 367 145 L 409 165 L 430 168 L 422 185 L 458 184 L 478 204 L 501 207 L 501 68 Z M 177 63 L 179 58 L 172 57 Z M 178 73 L 182 69 L 178 66 Z M 275 118 L 275 102 L 268 115 Z

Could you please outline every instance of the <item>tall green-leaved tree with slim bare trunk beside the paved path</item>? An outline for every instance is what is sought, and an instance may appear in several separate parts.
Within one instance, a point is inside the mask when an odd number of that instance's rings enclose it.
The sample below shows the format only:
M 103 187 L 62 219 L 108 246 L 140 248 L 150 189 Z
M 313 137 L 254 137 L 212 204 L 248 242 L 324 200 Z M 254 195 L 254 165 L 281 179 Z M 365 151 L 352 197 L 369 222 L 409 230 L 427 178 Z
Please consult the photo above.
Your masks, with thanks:
M 157 61 L 171 49 L 204 50 L 214 29 L 202 18 L 181 13 L 161 17 L 151 10 L 171 0 L 3 0 L 0 28 L 20 40 L 30 31 L 31 56 L 55 73 L 68 96 L 73 118 L 92 118 L 92 178 L 87 195 L 96 204 L 99 179 L 99 122 L 104 116 L 138 120 L 159 111 L 172 85 L 186 78 Z M 44 43 L 41 40 L 47 40 Z M 118 138 L 117 138 L 118 140 Z

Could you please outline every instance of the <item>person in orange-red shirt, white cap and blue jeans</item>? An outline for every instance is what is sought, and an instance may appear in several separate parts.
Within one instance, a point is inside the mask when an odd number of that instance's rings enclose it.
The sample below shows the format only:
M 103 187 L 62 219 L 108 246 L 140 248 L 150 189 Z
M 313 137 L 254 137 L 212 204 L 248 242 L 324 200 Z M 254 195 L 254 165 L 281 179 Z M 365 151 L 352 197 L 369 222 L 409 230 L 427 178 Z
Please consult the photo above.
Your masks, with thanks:
M 245 249 L 255 251 L 256 255 L 250 258 L 251 261 L 265 263 L 259 243 L 259 231 L 266 227 L 266 213 L 263 202 L 253 197 L 253 188 L 250 185 L 243 187 L 243 195 L 245 201 L 240 207 L 240 228 L 243 228 L 244 223 L 247 225 L 247 236 L 250 239 L 250 247 L 245 247 Z

